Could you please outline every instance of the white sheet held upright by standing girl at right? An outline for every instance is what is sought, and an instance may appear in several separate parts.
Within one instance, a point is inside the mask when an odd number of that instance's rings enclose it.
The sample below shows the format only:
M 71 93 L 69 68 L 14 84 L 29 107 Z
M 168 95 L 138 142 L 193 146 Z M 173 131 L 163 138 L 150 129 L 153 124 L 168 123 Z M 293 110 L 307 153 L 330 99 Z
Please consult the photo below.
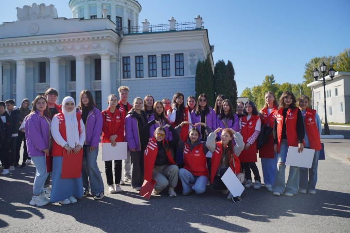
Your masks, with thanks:
M 301 153 L 298 153 L 297 150 L 297 147 L 288 148 L 286 165 L 311 168 L 315 150 L 304 148 Z

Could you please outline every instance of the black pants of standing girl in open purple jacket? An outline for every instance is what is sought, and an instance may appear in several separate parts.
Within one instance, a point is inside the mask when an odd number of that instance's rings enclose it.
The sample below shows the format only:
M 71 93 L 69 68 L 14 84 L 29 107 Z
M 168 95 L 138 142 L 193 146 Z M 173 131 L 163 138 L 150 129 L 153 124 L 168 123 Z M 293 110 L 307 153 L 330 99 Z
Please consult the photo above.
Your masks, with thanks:
M 131 151 L 131 164 L 132 171 L 131 171 L 131 186 L 133 188 L 141 187 L 143 183 L 143 150 L 141 151 Z

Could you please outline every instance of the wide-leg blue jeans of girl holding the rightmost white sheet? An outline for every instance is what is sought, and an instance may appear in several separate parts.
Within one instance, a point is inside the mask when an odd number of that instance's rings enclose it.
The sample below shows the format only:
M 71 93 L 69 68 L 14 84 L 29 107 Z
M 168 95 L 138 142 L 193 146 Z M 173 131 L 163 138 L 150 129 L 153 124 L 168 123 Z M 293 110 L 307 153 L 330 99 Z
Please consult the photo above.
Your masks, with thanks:
M 285 184 L 285 161 L 287 158 L 288 145 L 287 139 L 281 140 L 280 152 L 278 153 L 278 164 L 275 181 L 272 185 L 274 192 L 290 192 L 297 194 L 299 189 L 299 167 L 289 166 L 289 175 L 287 184 Z

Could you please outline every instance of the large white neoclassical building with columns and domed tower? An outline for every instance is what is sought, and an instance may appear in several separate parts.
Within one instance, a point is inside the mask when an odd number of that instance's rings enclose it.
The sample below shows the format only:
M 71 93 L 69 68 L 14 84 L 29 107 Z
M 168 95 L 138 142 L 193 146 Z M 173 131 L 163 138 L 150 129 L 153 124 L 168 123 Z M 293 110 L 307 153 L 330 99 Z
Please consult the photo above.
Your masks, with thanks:
M 89 89 L 103 109 L 120 85 L 130 87 L 130 99 L 195 94 L 196 64 L 208 55 L 212 61 L 213 51 L 200 16 L 139 26 L 136 0 L 70 0 L 69 7 L 67 19 L 53 5 L 33 3 L 0 25 L 2 100 L 33 100 L 50 86 L 59 101 Z

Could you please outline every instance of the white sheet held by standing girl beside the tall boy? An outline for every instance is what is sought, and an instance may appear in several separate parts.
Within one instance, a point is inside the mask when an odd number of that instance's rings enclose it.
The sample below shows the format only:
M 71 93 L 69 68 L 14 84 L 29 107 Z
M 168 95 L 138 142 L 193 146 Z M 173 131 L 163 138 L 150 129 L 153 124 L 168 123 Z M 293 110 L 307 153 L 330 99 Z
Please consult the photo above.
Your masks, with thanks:
M 102 160 L 122 160 L 126 159 L 127 142 L 117 142 L 115 147 L 111 143 L 102 143 Z

